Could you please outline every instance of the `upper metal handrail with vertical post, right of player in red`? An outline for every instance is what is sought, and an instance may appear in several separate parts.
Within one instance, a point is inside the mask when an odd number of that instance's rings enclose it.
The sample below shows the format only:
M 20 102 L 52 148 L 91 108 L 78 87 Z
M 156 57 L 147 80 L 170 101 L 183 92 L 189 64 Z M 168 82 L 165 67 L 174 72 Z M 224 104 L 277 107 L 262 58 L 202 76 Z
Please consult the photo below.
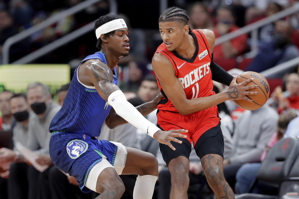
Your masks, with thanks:
M 252 40 L 253 40 L 253 45 L 252 45 L 252 50 L 257 50 L 258 46 L 257 46 L 257 40 L 258 40 L 258 34 L 257 34 L 257 30 L 264 26 L 267 25 L 273 21 L 277 21 L 278 19 L 281 19 L 282 17 L 288 16 L 292 13 L 298 12 L 299 11 L 299 4 L 296 4 L 292 7 L 289 7 L 283 11 L 280 11 L 274 15 L 268 16 L 264 19 L 261 19 L 257 22 L 254 22 L 252 24 L 246 25 L 238 30 L 235 30 L 231 33 L 225 34 L 219 38 L 217 38 L 215 40 L 215 46 L 222 44 L 225 41 L 228 41 L 230 39 L 233 39 L 235 37 L 238 37 L 240 35 L 252 32 Z

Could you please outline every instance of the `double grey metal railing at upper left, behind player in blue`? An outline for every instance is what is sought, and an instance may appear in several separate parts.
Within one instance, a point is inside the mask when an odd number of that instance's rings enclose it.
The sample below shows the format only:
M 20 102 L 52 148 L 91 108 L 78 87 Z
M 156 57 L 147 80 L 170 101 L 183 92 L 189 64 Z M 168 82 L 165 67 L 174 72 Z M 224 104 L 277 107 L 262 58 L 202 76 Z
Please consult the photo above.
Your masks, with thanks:
M 8 38 L 2 47 L 2 64 L 8 64 L 9 63 L 9 49 L 13 44 L 16 44 L 17 42 L 21 41 L 22 39 L 27 38 L 28 36 L 32 35 L 33 33 L 42 30 L 46 27 L 48 27 L 49 25 L 64 19 L 67 16 L 73 15 L 91 5 L 93 5 L 96 2 L 100 2 L 102 0 L 87 0 L 87 1 L 83 1 L 63 12 L 60 12 L 52 17 L 50 17 L 49 19 L 46 19 L 45 21 L 32 26 L 31 28 L 28 28 L 27 30 L 24 30 L 20 33 L 18 33 L 17 35 L 14 35 L 10 38 Z M 117 3 L 115 0 L 109 0 L 109 7 L 110 7 L 110 14 L 116 14 L 117 13 Z M 41 49 L 38 49 L 36 51 L 34 51 L 33 53 L 30 53 L 28 55 L 26 55 L 25 57 L 13 62 L 13 63 L 18 63 L 18 64 L 24 64 L 24 63 L 28 63 L 32 60 L 35 60 L 36 58 L 44 55 L 45 53 L 50 52 L 53 49 L 56 49 L 60 46 L 62 46 L 63 44 L 76 39 L 77 37 L 87 33 L 88 31 L 92 30 L 94 26 L 94 21 L 69 33 L 68 35 L 65 35 L 64 37 L 55 40 L 54 42 L 42 47 Z M 47 50 L 45 48 L 50 48 L 50 50 Z

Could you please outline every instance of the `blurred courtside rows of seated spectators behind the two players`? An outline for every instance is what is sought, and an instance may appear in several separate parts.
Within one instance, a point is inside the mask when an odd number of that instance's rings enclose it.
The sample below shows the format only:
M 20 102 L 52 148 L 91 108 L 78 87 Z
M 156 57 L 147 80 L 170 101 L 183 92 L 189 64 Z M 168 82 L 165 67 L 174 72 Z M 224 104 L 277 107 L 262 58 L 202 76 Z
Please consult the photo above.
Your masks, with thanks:
M 236 75 L 242 71 L 232 69 L 229 72 Z M 26 94 L 15 94 L 8 90 L 0 93 L 0 198 L 73 199 L 97 196 L 95 192 L 82 193 L 75 178 L 57 169 L 49 156 L 50 121 L 63 105 L 69 86 L 70 84 L 63 85 L 57 91 L 58 103 L 53 101 L 49 87 L 40 82 L 32 82 L 27 87 Z M 285 88 L 285 92 L 281 88 L 275 89 L 268 102 L 257 110 L 241 109 L 233 101 L 218 105 L 225 142 L 224 176 L 235 193 L 246 193 L 249 190 L 271 147 L 284 137 L 299 136 L 297 73 L 286 76 Z M 213 90 L 216 93 L 225 89 L 226 86 L 214 83 Z M 154 100 L 159 90 L 155 77 L 147 75 L 139 84 L 132 84 L 132 90 L 124 93 L 127 100 L 136 107 Z M 156 110 L 146 118 L 156 124 Z M 293 125 L 288 125 L 290 122 Z M 104 124 L 98 139 L 121 142 L 125 146 L 154 154 L 159 162 L 159 178 L 153 198 L 164 199 L 169 196 L 170 172 L 160 153 L 158 141 L 131 124 L 114 129 L 109 129 Z M 33 160 L 24 154 L 25 149 L 34 156 Z M 212 197 L 213 192 L 193 148 L 189 178 L 189 198 Z M 126 186 L 122 198 L 132 198 L 136 176 L 121 175 L 121 179 Z M 277 194 L 278 188 L 262 184 L 254 192 Z

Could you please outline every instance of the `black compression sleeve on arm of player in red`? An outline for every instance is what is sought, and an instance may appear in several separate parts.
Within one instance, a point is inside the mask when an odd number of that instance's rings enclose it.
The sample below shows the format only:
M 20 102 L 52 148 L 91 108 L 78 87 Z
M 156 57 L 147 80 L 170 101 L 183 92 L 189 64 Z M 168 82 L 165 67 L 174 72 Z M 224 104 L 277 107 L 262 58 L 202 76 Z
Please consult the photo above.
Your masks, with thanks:
M 233 80 L 233 76 L 226 72 L 221 66 L 213 62 L 213 53 L 211 58 L 211 73 L 212 80 L 217 81 L 221 84 L 225 84 L 226 86 L 230 86 L 230 82 Z

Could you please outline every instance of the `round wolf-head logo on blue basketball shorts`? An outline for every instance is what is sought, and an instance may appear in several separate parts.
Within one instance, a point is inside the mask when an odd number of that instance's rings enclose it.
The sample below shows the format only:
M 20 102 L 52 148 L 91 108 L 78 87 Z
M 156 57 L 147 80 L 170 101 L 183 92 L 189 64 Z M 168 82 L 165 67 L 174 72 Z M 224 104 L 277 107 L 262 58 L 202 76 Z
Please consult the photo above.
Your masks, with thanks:
M 72 140 L 66 146 L 66 151 L 72 159 L 78 158 L 88 148 L 88 144 L 81 140 Z

